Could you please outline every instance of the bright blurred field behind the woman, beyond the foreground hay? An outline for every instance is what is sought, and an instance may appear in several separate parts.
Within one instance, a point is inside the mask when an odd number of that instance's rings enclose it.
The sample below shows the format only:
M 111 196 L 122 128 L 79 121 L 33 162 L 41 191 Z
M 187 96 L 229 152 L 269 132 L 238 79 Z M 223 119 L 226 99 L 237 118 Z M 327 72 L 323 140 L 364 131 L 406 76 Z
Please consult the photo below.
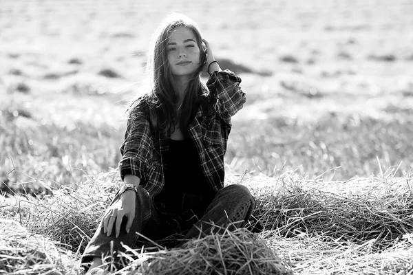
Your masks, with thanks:
M 115 168 L 125 103 L 172 10 L 243 79 L 229 173 L 411 173 L 410 1 L 3 0 L 0 179 L 55 186 Z

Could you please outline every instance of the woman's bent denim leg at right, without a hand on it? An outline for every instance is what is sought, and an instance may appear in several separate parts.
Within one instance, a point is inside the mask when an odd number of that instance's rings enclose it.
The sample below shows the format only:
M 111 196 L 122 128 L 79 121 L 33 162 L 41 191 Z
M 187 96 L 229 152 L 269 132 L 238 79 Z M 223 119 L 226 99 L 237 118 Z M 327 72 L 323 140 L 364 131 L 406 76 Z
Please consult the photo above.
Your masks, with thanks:
M 204 216 L 193 225 L 184 239 L 196 238 L 200 232 L 217 232 L 220 227 L 223 228 L 230 223 L 234 229 L 240 228 L 250 219 L 254 207 L 255 199 L 248 188 L 240 184 L 226 186 L 217 192 Z

